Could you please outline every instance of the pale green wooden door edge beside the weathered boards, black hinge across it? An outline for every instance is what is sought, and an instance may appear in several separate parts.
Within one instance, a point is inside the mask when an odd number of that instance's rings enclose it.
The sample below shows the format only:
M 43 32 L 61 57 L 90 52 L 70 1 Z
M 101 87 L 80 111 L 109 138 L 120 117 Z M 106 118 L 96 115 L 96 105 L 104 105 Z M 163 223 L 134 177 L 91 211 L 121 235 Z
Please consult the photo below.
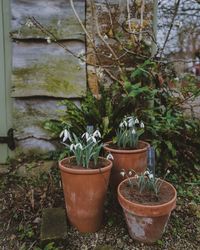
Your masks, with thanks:
M 5 163 L 9 155 L 8 145 L 2 143 L 11 128 L 10 98 L 10 1 L 0 0 L 0 163 Z

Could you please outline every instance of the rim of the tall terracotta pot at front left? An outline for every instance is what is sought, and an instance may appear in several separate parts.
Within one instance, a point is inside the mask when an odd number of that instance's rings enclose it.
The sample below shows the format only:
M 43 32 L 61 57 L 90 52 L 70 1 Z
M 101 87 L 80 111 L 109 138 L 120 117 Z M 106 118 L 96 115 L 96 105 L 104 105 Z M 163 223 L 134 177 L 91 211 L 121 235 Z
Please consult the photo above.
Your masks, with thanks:
M 71 174 L 87 174 L 87 175 L 88 174 L 98 174 L 98 173 L 107 172 L 108 170 L 110 170 L 112 168 L 112 165 L 113 165 L 111 160 L 108 160 L 104 157 L 99 157 L 99 159 L 107 161 L 108 164 L 102 168 L 97 168 L 97 169 L 87 169 L 87 168 L 75 169 L 75 168 L 66 167 L 64 162 L 69 160 L 69 159 L 72 159 L 72 158 L 75 158 L 75 156 L 66 157 L 58 162 L 59 168 L 61 171 L 66 172 L 66 173 L 71 173 Z

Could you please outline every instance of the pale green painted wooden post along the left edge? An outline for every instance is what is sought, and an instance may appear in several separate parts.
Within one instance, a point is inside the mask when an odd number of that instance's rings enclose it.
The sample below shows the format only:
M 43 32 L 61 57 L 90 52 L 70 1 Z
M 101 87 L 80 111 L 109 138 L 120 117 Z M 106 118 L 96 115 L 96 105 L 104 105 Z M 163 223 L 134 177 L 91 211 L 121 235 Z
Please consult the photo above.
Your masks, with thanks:
M 7 1 L 8 3 L 9 1 Z M 5 50 L 5 20 L 4 6 L 6 1 L 0 0 L 0 136 L 6 136 L 8 130 L 7 87 L 6 87 L 6 50 Z M 5 163 L 8 157 L 8 147 L 0 144 L 0 163 Z

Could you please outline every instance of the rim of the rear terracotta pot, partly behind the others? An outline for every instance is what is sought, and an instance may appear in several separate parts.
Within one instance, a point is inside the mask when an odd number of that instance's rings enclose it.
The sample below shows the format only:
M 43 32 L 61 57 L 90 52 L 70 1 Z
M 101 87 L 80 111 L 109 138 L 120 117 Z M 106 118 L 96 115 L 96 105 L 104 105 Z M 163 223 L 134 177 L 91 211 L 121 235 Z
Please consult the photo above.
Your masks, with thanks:
M 104 144 L 103 148 L 106 151 L 113 152 L 113 153 L 137 154 L 137 153 L 147 151 L 147 149 L 150 147 L 150 144 L 148 142 L 145 142 L 142 140 L 139 140 L 138 142 L 144 144 L 145 146 L 143 148 L 139 148 L 139 149 L 115 149 L 115 148 L 109 147 L 109 144 L 112 143 L 112 141 L 108 141 Z

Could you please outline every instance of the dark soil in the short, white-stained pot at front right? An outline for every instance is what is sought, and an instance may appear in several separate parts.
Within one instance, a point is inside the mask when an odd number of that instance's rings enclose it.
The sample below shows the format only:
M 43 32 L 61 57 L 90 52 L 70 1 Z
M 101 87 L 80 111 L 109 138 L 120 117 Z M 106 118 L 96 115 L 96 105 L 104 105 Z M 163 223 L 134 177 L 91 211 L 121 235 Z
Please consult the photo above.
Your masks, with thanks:
M 160 205 L 169 202 L 173 196 L 173 189 L 163 182 L 158 195 L 153 191 L 144 190 L 140 193 L 137 185 L 130 187 L 129 183 L 123 183 L 121 186 L 121 194 L 129 201 L 143 205 Z

